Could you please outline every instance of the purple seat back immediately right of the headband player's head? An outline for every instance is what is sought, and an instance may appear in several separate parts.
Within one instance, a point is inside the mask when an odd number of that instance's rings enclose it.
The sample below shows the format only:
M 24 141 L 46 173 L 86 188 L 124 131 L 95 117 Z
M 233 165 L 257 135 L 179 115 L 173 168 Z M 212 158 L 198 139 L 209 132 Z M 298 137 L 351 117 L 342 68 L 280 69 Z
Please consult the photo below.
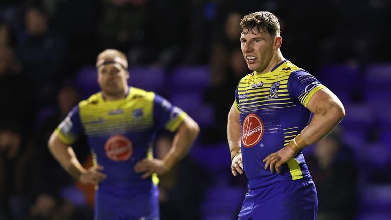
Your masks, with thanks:
M 138 66 L 129 68 L 129 85 L 147 91 L 159 92 L 165 86 L 165 70 L 157 67 Z

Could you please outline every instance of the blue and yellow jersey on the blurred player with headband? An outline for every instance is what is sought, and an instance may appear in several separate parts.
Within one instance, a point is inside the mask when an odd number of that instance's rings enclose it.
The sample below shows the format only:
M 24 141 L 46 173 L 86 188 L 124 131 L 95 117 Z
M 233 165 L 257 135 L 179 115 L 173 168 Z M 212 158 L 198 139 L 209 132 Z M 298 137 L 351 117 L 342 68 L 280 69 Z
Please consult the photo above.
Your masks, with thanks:
M 99 188 L 145 191 L 152 187 L 152 178 L 142 180 L 133 167 L 147 155 L 152 157 L 158 129 L 174 132 L 186 115 L 161 96 L 130 87 L 121 100 L 105 100 L 99 92 L 81 101 L 55 132 L 66 144 L 86 134 L 94 163 L 107 175 Z

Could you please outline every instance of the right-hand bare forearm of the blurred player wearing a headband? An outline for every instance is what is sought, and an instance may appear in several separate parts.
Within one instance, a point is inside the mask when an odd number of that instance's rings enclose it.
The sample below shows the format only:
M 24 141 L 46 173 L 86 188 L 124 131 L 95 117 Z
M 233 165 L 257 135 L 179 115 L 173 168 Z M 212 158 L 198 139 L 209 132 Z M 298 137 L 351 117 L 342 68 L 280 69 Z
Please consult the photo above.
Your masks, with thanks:
M 190 117 L 186 117 L 174 136 L 170 151 L 163 158 L 169 169 L 188 153 L 199 132 L 198 124 Z

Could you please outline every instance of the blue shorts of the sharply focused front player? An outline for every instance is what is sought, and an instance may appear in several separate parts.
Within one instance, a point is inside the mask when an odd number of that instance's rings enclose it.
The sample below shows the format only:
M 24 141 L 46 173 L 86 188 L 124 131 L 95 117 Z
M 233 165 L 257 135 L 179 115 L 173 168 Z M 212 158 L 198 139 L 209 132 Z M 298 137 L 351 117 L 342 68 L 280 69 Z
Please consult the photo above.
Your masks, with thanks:
M 299 179 L 248 190 L 239 220 L 315 220 L 317 211 L 314 182 Z

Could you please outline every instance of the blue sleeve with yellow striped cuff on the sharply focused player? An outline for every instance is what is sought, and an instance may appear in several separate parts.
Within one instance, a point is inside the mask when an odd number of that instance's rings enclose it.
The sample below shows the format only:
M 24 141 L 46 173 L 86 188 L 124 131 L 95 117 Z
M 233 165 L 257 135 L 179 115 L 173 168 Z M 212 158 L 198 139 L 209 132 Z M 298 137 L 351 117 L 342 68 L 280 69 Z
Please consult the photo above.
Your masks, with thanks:
M 288 78 L 288 92 L 306 107 L 311 97 L 319 90 L 326 88 L 318 79 L 304 70 L 292 72 Z

